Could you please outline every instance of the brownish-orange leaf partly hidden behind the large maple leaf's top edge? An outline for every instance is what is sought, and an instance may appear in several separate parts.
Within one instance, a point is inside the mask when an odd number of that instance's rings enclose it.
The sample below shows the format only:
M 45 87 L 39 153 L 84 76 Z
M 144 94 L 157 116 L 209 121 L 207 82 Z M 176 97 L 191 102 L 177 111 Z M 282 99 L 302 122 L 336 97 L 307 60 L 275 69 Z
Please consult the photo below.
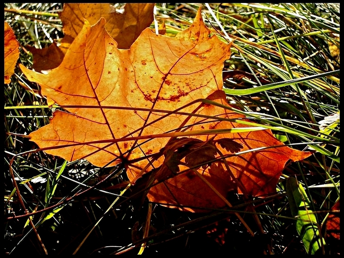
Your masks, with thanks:
M 101 17 L 107 23 L 105 29 L 117 42 L 117 48 L 129 49 L 143 29 L 153 22 L 154 3 L 126 3 L 124 12 L 116 11 L 110 3 L 64 3 L 59 17 L 62 21 L 64 37 L 49 48 L 27 47 L 33 56 L 33 67 L 37 72 L 56 68 L 84 26 L 85 19 L 90 25 L 96 24 Z

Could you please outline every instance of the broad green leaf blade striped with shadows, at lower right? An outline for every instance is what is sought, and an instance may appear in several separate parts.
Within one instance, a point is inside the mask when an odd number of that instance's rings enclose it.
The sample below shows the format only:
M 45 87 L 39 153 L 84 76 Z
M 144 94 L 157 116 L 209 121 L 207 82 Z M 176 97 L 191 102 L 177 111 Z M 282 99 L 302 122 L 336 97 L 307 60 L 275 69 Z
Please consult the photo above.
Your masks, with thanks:
M 319 232 L 315 214 L 310 209 L 310 201 L 302 185 L 293 177 L 287 179 L 286 192 L 291 214 L 297 218 L 296 230 L 306 252 L 314 255 L 323 248 L 325 241 Z

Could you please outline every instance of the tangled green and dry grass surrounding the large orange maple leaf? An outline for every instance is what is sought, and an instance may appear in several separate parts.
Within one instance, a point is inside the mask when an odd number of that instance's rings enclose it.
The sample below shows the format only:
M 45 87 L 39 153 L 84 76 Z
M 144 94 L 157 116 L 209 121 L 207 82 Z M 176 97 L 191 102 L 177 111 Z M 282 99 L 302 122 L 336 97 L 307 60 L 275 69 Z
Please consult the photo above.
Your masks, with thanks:
M 286 194 L 287 178 L 295 177 L 315 212 L 318 234 L 325 238 L 326 245 L 317 252 L 339 254 L 339 240 L 325 230 L 329 211 L 340 196 L 339 6 L 156 6 L 157 20 L 165 21 L 170 34 L 187 28 L 202 7 L 213 33 L 233 41 L 232 56 L 224 68 L 224 90 L 233 111 L 272 127 L 276 137 L 291 147 L 314 149 L 315 154 L 287 166 L 277 195 L 249 201 L 230 197 L 235 212 L 242 213 L 255 236 L 231 216 L 233 210 L 189 214 L 148 201 L 138 207 L 128 196 L 113 206 L 128 180 L 120 167 L 99 169 L 84 160 L 66 162 L 44 152 L 26 153 L 35 146 L 25 136 L 47 124 L 53 110 L 28 90 L 39 88 L 16 69 L 4 89 L 5 252 L 137 254 L 145 244 L 144 254 L 306 254 Z M 62 8 L 57 3 L 5 3 L 5 21 L 21 45 L 19 63 L 32 65 L 26 46 L 43 48 L 63 37 L 57 15 Z M 254 205 L 254 212 L 245 209 L 247 203 Z M 23 207 L 29 214 L 41 212 L 30 218 L 23 215 Z M 143 237 L 147 218 L 150 228 Z

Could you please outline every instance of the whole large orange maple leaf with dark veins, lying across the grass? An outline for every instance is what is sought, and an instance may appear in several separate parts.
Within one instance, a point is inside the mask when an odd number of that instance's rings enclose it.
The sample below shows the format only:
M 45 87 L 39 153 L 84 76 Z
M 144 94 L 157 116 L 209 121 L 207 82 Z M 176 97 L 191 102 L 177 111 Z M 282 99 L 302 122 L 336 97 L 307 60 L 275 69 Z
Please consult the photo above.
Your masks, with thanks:
M 229 112 L 222 90 L 230 44 L 211 35 L 200 10 L 174 38 L 145 29 L 128 50 L 117 48 L 105 26 L 104 19 L 92 27 L 86 21 L 47 75 L 21 65 L 48 100 L 69 112 L 55 112 L 29 135 L 47 153 L 99 167 L 124 162 L 132 183 L 148 177 L 150 201 L 191 211 L 228 205 L 233 189 L 275 192 L 286 162 L 310 155 L 270 130 L 230 131 L 245 128 L 228 120 L 244 117 Z

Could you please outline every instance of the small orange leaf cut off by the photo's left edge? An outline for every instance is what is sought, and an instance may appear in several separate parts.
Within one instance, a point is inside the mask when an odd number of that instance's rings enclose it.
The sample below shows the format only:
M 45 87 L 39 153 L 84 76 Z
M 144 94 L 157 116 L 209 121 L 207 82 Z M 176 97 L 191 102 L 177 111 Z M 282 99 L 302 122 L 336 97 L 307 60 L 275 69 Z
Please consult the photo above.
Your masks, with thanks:
M 11 76 L 14 74 L 17 60 L 19 58 L 19 43 L 14 34 L 13 29 L 5 22 L 4 29 L 4 47 L 5 47 L 5 63 L 4 63 L 4 83 L 11 82 Z

